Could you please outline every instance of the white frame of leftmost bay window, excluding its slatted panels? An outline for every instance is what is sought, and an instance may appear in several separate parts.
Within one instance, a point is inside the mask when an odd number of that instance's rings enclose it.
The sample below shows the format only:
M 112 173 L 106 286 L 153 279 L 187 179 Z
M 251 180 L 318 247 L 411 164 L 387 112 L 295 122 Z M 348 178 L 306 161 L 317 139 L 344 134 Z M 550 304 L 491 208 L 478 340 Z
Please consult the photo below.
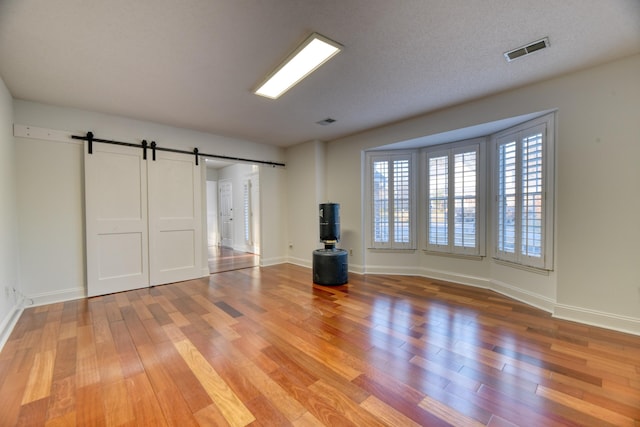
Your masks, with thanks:
M 367 219 L 369 224 L 369 249 L 392 249 L 392 250 L 409 250 L 417 249 L 416 229 L 417 229 L 417 214 L 416 214 L 416 174 L 417 174 L 417 151 L 416 150 L 390 150 L 390 151 L 369 151 L 366 152 L 366 164 L 367 164 Z M 393 170 L 391 165 L 394 161 L 407 160 L 409 162 L 409 189 L 408 189 L 408 202 L 409 202 L 409 241 L 408 242 L 396 242 L 395 230 L 394 230 L 394 204 L 395 194 L 393 194 Z M 388 228 L 388 241 L 376 242 L 375 236 L 375 198 L 374 198 L 374 163 L 386 161 L 389 162 L 390 168 L 388 176 L 388 191 L 389 197 L 387 199 L 387 228 Z

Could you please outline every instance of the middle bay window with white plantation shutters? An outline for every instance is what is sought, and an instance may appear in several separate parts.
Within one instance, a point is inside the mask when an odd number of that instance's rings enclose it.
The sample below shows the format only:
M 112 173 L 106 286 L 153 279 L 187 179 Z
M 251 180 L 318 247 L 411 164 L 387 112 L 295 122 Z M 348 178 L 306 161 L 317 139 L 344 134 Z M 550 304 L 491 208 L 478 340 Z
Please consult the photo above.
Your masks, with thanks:
M 462 255 L 484 253 L 481 210 L 483 141 L 427 150 L 427 249 Z

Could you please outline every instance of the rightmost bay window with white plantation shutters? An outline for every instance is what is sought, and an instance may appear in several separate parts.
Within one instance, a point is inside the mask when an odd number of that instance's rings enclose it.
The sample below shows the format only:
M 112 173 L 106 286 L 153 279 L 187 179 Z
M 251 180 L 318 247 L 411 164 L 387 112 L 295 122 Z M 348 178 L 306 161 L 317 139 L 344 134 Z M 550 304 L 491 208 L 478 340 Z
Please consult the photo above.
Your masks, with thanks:
M 495 257 L 550 270 L 553 116 L 501 132 L 494 139 Z

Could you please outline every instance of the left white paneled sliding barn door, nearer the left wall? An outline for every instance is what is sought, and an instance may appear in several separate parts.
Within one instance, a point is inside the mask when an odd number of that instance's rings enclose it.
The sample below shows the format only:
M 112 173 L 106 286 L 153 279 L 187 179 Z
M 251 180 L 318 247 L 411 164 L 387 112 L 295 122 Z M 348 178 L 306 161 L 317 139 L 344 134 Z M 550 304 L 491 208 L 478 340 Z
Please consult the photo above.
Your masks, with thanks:
M 84 161 L 88 296 L 149 286 L 142 150 L 94 144 Z

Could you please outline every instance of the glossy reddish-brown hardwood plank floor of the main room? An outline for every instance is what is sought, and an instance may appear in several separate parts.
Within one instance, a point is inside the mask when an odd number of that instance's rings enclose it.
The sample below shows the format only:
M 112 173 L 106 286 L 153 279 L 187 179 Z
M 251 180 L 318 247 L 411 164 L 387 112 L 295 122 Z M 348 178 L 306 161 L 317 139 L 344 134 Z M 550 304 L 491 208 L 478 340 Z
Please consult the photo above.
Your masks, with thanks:
M 28 308 L 0 425 L 639 426 L 640 337 L 289 264 Z

